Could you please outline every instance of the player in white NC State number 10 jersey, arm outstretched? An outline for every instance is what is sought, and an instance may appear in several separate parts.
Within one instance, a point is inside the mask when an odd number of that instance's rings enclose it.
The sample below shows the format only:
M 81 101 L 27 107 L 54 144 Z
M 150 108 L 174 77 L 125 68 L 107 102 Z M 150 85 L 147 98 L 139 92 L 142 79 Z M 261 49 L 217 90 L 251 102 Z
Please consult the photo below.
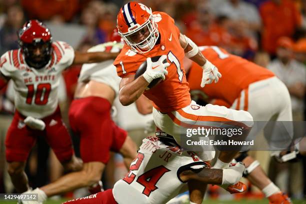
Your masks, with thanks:
M 0 88 L 9 79 L 15 90 L 15 114 L 6 134 L 8 173 L 17 192 L 29 189 L 25 162 L 37 136 L 44 136 L 65 170 L 80 170 L 70 136 L 61 120 L 57 88 L 61 72 L 76 63 L 99 62 L 116 53 L 78 53 L 65 42 L 51 41 L 51 33 L 38 20 L 19 30 L 19 49 L 0 58 Z

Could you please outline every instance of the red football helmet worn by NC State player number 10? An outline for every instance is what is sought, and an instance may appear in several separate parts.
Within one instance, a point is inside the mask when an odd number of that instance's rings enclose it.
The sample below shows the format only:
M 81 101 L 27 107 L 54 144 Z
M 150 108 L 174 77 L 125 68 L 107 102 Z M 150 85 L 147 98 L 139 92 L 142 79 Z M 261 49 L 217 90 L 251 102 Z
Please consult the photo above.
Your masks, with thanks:
M 42 22 L 38 20 L 25 22 L 19 29 L 18 39 L 27 65 L 42 68 L 49 62 L 52 53 L 52 36 Z

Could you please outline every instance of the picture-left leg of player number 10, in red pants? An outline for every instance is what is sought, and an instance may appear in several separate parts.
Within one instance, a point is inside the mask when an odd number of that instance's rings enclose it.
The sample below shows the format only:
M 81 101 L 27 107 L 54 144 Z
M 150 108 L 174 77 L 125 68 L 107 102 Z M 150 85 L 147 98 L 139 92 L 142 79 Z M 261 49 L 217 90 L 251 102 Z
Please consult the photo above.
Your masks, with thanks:
M 17 192 L 28 190 L 25 162 L 35 142 L 34 131 L 26 127 L 23 118 L 15 111 L 5 138 L 7 171 Z

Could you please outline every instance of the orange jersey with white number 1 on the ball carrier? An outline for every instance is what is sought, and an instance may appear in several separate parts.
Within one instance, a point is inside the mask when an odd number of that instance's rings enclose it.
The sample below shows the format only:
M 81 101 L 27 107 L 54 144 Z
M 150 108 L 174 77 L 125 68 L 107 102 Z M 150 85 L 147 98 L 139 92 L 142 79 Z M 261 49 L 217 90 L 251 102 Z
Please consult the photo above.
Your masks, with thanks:
M 160 43 L 150 51 L 141 54 L 130 50 L 126 44 L 114 61 L 117 74 L 124 77 L 134 74 L 147 57 L 167 55 L 170 66 L 165 80 L 151 89 L 145 90 L 144 95 L 153 101 L 153 106 L 161 112 L 170 112 L 187 106 L 191 102 L 189 86 L 183 68 L 184 50 L 179 43 L 179 30 L 174 20 L 164 12 L 153 12 L 158 25 Z

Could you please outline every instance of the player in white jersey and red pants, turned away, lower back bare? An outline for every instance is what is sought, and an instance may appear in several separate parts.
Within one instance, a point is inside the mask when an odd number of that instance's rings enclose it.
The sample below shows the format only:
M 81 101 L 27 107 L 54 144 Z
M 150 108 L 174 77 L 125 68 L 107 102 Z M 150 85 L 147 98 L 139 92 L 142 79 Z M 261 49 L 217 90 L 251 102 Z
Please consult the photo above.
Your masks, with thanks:
M 88 49 L 117 53 L 122 43 L 106 42 Z M 80 156 L 83 169 L 68 173 L 58 180 L 26 193 L 38 193 L 38 203 L 46 197 L 61 194 L 79 187 L 90 186 L 89 191 L 101 191 L 100 178 L 109 160 L 109 151 L 122 154 L 128 169 L 137 156 L 136 145 L 126 131 L 111 119 L 111 106 L 118 94 L 120 78 L 113 60 L 83 64 L 69 109 L 69 123 L 80 136 Z M 23 203 L 27 203 L 23 201 Z M 31 202 L 33 203 L 33 202 Z

